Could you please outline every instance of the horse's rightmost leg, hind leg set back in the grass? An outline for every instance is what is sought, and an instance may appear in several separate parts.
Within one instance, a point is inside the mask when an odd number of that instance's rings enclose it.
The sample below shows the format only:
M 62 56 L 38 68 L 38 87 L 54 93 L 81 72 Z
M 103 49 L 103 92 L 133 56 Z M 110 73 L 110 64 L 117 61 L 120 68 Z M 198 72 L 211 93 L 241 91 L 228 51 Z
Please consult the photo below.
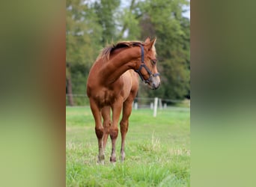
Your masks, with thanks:
M 124 102 L 123 106 L 123 117 L 120 122 L 120 130 L 121 130 L 121 162 L 124 162 L 125 159 L 125 153 L 124 153 L 124 144 L 125 144 L 125 138 L 128 131 L 129 126 L 129 115 L 132 113 L 132 101 L 127 100 Z

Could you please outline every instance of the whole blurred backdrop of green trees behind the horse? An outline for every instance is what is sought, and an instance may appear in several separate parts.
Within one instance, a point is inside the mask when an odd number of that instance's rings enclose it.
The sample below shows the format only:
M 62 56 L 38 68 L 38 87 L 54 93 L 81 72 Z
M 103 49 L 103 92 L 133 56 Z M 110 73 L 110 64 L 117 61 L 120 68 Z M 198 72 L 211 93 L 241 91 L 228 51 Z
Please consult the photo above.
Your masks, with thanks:
M 157 37 L 162 85 L 149 91 L 141 84 L 138 96 L 189 98 L 190 20 L 183 16 L 188 4 L 186 0 L 67 0 L 66 92 L 85 94 L 91 64 L 107 44 L 149 36 Z M 71 96 L 67 104 L 74 104 Z

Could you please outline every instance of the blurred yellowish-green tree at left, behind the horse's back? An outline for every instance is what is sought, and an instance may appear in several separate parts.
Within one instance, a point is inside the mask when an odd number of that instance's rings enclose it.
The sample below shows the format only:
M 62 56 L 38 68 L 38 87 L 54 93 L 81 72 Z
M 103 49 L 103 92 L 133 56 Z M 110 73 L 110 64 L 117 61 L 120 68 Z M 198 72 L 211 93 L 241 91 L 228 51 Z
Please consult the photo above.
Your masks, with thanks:
M 100 49 L 102 29 L 87 1 L 66 1 L 66 82 L 69 105 L 73 105 L 72 77 L 87 75 Z M 85 85 L 82 85 L 85 87 Z

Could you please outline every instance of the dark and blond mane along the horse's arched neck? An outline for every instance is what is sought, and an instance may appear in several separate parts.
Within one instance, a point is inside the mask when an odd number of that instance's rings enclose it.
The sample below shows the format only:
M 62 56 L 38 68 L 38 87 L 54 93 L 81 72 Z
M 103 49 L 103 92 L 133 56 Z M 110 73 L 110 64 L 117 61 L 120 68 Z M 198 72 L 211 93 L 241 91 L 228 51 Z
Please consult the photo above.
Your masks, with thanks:
M 112 54 L 112 52 L 115 51 L 115 49 L 121 49 L 121 48 L 128 48 L 132 46 L 144 46 L 144 42 L 141 41 L 121 41 L 116 44 L 111 44 L 109 46 L 106 46 L 101 52 L 100 55 L 97 57 L 97 60 L 100 58 L 103 58 L 105 60 L 109 60 L 109 56 Z M 97 61 L 96 60 L 96 61 Z

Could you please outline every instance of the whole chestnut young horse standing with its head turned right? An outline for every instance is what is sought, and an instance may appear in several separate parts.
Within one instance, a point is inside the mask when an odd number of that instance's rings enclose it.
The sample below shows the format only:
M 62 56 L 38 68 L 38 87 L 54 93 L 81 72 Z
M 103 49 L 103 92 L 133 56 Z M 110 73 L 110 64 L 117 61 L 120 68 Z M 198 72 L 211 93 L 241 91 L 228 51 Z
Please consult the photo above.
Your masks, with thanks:
M 99 145 L 98 162 L 104 162 L 109 135 L 112 140 L 110 162 L 116 162 L 115 141 L 118 138 L 118 120 L 122 107 L 121 161 L 124 161 L 124 141 L 129 125 L 129 115 L 132 112 L 132 102 L 138 91 L 138 76 L 151 89 L 159 88 L 155 41 L 156 39 L 147 38 L 144 42 L 124 41 L 106 47 L 91 67 L 87 95 L 95 120 L 95 132 Z

